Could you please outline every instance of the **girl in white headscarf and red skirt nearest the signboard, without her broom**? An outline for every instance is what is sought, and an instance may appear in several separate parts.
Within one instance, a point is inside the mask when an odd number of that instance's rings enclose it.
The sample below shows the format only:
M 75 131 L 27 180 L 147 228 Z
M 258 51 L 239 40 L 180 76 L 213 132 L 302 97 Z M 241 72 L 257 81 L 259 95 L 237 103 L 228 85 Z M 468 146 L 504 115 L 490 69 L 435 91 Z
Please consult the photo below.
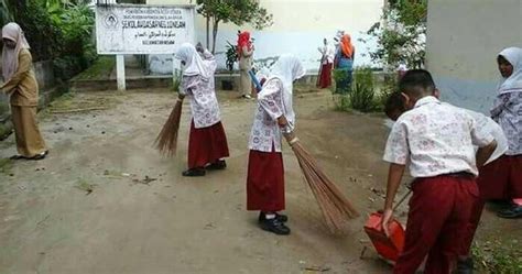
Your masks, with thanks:
M 229 152 L 214 87 L 216 59 L 207 50 L 200 48 L 198 53 L 189 43 L 180 47 L 176 58 L 185 66 L 180 99 L 188 97 L 193 118 L 188 169 L 183 172 L 183 176 L 205 176 L 206 171 L 225 169 L 224 158 L 229 156 Z

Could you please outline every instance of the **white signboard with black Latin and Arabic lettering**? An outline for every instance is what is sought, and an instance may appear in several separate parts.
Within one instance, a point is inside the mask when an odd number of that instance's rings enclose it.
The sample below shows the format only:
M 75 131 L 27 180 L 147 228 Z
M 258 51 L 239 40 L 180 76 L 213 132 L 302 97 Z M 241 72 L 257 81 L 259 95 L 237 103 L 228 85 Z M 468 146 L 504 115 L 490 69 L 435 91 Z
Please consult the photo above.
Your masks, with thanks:
M 194 43 L 194 6 L 96 7 L 98 54 L 173 54 Z

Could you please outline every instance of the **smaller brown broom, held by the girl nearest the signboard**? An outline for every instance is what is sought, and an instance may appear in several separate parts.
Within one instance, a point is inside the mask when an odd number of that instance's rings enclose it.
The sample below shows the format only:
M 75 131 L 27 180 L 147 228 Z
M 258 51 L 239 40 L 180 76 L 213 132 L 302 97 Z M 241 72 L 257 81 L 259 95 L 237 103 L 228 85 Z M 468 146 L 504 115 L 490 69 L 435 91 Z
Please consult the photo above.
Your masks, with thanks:
M 163 129 L 154 141 L 155 147 L 161 154 L 173 156 L 176 153 L 177 132 L 180 130 L 180 120 L 182 118 L 183 101 L 177 100 L 171 111 Z

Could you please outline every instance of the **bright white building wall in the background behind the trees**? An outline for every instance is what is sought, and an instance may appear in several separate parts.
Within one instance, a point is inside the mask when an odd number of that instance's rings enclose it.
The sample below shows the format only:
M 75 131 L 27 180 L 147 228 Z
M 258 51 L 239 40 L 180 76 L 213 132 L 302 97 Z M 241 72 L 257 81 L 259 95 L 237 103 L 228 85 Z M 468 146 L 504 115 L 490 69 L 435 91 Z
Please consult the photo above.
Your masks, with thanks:
M 188 0 L 148 0 L 149 4 L 189 3 Z M 195 2 L 195 1 L 192 1 Z M 367 37 L 362 32 L 380 20 L 383 0 L 261 0 L 261 6 L 273 14 L 274 24 L 263 31 L 249 30 L 255 39 L 255 59 L 276 57 L 282 53 L 297 55 L 308 70 L 318 68 L 320 55 L 317 47 L 324 37 L 333 39 L 337 30 L 351 34 L 357 47 L 356 65 L 371 65 L 368 47 L 371 42 L 363 44 L 358 41 Z M 238 26 L 221 24 L 219 28 L 216 56 L 218 64 L 225 67 L 227 41 L 235 44 Z M 197 17 L 196 36 L 205 42 L 205 20 Z

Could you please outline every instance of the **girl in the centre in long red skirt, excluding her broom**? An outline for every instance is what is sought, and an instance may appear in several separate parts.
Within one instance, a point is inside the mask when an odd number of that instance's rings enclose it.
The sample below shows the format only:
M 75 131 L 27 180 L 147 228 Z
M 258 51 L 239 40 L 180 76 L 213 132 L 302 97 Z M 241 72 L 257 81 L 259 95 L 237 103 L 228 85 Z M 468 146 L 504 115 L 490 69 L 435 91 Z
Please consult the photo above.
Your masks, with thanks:
M 284 224 L 284 168 L 281 154 L 282 133 L 294 129 L 292 109 L 293 83 L 303 77 L 301 62 L 282 55 L 258 94 L 258 109 L 249 141 L 247 209 L 260 211 L 261 229 L 275 234 L 290 234 Z

